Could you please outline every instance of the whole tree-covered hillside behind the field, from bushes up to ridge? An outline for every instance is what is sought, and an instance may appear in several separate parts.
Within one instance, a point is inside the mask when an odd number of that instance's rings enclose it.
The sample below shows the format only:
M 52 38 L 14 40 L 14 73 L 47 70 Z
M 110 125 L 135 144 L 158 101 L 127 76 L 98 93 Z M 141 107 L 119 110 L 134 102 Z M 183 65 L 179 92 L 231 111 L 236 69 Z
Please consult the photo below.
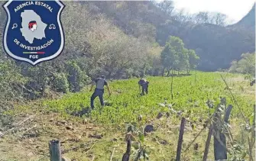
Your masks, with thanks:
M 77 92 L 98 74 L 128 79 L 162 76 L 170 74 L 170 69 L 228 69 L 233 60 L 241 59 L 241 53 L 254 51 L 254 31 L 238 24 L 225 27 L 224 14 L 190 15 L 175 11 L 171 1 L 64 3 L 61 20 L 66 43 L 57 59 L 34 67 L 12 60 L 1 46 L 0 84 L 6 98 L 38 98 L 52 90 Z M 6 21 L 3 8 L 0 18 L 2 36 Z M 170 37 L 177 37 L 180 43 L 169 45 Z M 168 60 L 164 53 L 177 56 Z M 198 61 L 191 61 L 192 55 Z M 171 62 L 180 65 L 171 66 Z

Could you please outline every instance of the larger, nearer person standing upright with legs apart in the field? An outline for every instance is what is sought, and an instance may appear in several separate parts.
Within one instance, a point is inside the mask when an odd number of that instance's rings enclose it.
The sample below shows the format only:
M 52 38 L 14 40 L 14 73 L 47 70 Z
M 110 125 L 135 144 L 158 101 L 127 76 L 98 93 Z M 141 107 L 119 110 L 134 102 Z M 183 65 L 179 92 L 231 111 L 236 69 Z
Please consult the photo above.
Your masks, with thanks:
M 94 108 L 93 101 L 97 96 L 99 96 L 100 104 L 102 106 L 104 106 L 104 101 L 103 101 L 104 85 L 107 86 L 107 89 L 109 91 L 109 96 L 111 95 L 108 82 L 105 81 L 105 76 L 101 76 L 101 77 L 97 78 L 94 82 L 96 82 L 96 89 L 93 92 L 92 97 L 91 97 L 91 108 L 92 109 Z M 92 82 L 90 92 L 92 91 L 93 85 L 94 85 L 94 83 Z

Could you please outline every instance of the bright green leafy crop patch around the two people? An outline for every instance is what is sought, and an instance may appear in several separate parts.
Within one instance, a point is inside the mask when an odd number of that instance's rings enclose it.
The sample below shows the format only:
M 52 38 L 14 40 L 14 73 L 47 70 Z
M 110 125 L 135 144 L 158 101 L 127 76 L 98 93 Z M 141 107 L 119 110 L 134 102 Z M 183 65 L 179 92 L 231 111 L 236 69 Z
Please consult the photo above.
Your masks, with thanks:
M 248 82 L 240 85 L 232 81 L 236 75 L 222 73 L 227 79 L 230 89 L 234 91 L 236 100 L 247 118 L 252 118 L 254 98 L 243 95 L 244 87 L 250 88 Z M 238 75 L 237 75 L 238 76 Z M 125 122 L 137 121 L 138 115 L 142 115 L 141 123 L 155 118 L 159 112 L 183 111 L 183 116 L 191 121 L 199 121 L 209 118 L 214 108 L 209 108 L 207 101 L 214 105 L 219 103 L 220 97 L 225 97 L 228 104 L 234 104 L 232 96 L 225 89 L 225 82 L 220 73 L 198 72 L 192 76 L 173 77 L 173 99 L 171 98 L 171 77 L 148 77 L 150 82 L 149 94 L 141 96 L 138 89 L 138 79 L 128 79 L 109 82 L 112 95 L 109 97 L 105 91 L 104 98 L 107 105 L 99 108 L 99 99 L 96 98 L 96 110 L 92 111 L 92 120 L 105 125 L 120 125 Z M 238 88 L 236 88 L 238 87 Z M 253 91 L 253 87 L 251 87 Z M 79 111 L 89 108 L 90 95 L 86 89 L 84 92 L 65 95 L 57 101 L 46 101 L 44 105 L 51 111 Z M 234 108 L 232 116 L 238 114 L 238 108 Z

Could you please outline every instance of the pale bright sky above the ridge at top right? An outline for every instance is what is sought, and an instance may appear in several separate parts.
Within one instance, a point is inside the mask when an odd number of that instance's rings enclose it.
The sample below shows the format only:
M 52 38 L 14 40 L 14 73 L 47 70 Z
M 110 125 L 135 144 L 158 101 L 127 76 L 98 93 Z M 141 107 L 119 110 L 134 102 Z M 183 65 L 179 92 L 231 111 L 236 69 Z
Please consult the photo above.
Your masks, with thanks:
M 184 8 L 191 14 L 199 11 L 217 11 L 226 14 L 228 21 L 235 23 L 248 14 L 255 0 L 173 0 L 173 2 L 175 8 Z

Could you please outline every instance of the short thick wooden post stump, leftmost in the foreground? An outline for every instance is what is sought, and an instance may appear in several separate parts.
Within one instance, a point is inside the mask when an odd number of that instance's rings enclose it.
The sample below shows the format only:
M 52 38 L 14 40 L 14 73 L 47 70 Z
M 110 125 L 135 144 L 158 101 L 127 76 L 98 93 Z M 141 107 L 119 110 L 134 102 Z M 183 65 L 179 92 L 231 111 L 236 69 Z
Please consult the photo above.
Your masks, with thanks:
M 61 150 L 59 140 L 49 141 L 50 161 L 61 161 Z

